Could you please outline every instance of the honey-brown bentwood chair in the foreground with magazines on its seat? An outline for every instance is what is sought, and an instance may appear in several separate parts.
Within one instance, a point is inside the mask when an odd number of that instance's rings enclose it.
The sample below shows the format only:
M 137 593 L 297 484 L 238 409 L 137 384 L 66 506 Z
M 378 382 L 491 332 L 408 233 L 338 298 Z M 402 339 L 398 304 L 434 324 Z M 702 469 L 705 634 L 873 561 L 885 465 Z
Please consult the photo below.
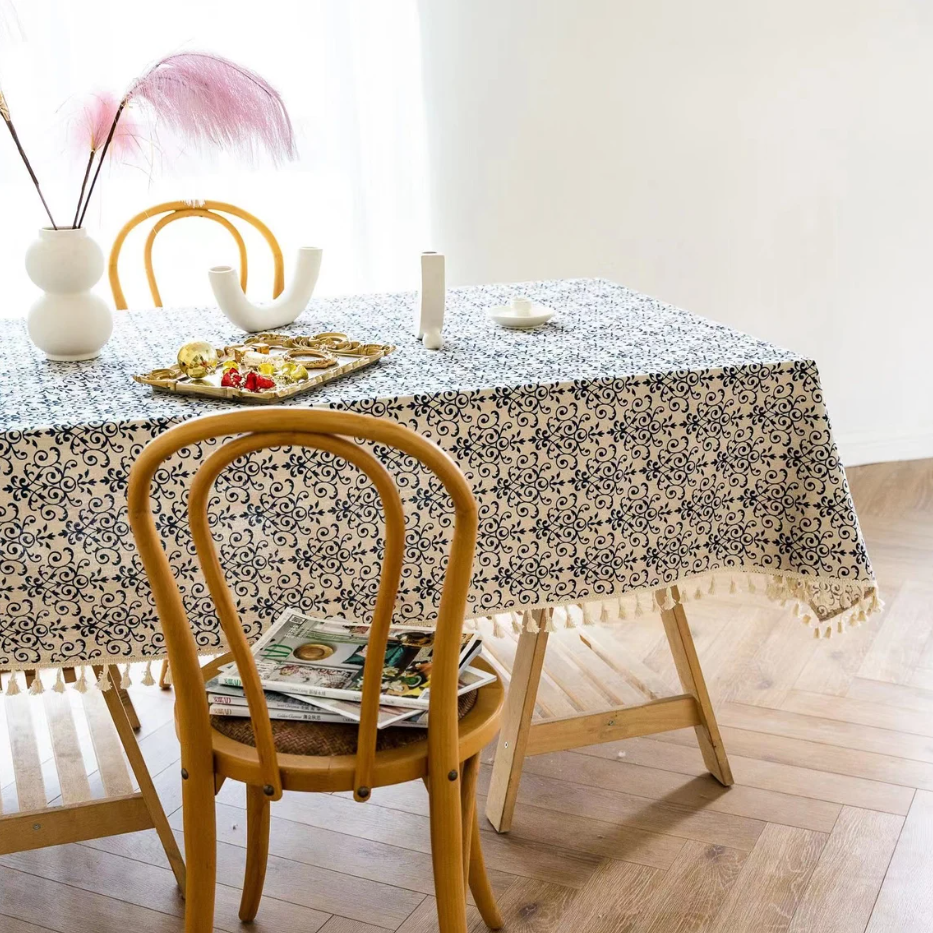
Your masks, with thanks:
M 237 435 L 231 438 L 231 435 Z M 191 482 L 188 515 L 198 561 L 230 653 L 201 668 L 181 594 L 153 519 L 153 477 L 183 447 L 224 442 Z M 354 439 L 397 449 L 427 467 L 454 507 L 454 531 L 438 609 L 427 736 L 420 730 L 376 729 L 382 663 L 405 548 L 405 521 L 394 481 Z M 208 503 L 220 473 L 239 457 L 269 447 L 307 447 L 352 464 L 376 487 L 382 503 L 384 557 L 363 671 L 359 727 L 269 719 L 253 656 L 211 536 Z M 466 933 L 466 886 L 493 929 L 502 925 L 480 850 L 475 791 L 479 753 L 498 731 L 503 688 L 481 688 L 469 701 L 457 697 L 458 657 L 476 546 L 477 511 L 470 487 L 453 460 L 434 444 L 391 421 L 347 412 L 264 408 L 208 415 L 180 424 L 151 441 L 130 471 L 133 535 L 152 585 L 175 686 L 175 720 L 181 743 L 187 933 L 213 929 L 216 874 L 214 794 L 227 778 L 246 784 L 247 860 L 240 917 L 259 908 L 269 842 L 270 801 L 284 790 L 347 791 L 364 802 L 372 789 L 424 780 L 429 793 L 431 854 L 441 933 Z M 250 718 L 240 727 L 212 719 L 204 681 L 233 659 Z M 480 662 L 482 663 L 482 662 Z M 489 668 L 487 668 L 488 670 Z

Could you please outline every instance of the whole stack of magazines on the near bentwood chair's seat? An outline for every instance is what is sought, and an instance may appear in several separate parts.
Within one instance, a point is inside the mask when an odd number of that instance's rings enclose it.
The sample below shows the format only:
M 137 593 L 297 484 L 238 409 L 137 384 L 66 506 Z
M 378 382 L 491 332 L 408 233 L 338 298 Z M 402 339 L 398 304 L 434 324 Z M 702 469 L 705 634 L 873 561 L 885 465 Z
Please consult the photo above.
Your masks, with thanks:
M 286 609 L 253 645 L 256 669 L 271 719 L 358 723 L 369 626 L 339 618 L 312 618 Z M 477 690 L 495 675 L 471 667 L 482 650 L 475 633 L 460 646 L 459 694 Z M 434 630 L 393 626 L 382 668 L 379 728 L 428 724 Z M 207 683 L 212 716 L 249 716 L 236 665 Z

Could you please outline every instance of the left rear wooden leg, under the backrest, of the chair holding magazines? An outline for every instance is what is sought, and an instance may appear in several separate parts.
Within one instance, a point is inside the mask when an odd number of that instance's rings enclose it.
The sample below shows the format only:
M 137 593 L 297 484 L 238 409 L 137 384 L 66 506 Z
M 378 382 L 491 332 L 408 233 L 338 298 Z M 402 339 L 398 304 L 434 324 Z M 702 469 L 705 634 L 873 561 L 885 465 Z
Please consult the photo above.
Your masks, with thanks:
M 181 783 L 187 869 L 185 933 L 211 933 L 217 884 L 214 775 L 207 768 L 195 770 L 189 767 L 188 776 Z

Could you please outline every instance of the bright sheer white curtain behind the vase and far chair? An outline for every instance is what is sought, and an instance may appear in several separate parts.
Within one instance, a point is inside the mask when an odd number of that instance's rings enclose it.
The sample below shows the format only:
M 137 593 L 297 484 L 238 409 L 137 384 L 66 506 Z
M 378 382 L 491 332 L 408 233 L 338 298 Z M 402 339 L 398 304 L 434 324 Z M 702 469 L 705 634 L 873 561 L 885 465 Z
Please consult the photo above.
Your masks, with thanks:
M 205 49 L 281 91 L 299 160 L 276 169 L 165 149 L 153 154 L 151 172 L 105 168 L 85 222 L 104 251 L 145 207 L 215 199 L 272 228 L 286 277 L 298 246 L 324 247 L 318 294 L 415 287 L 418 253 L 431 248 L 415 0 L 20 0 L 18 24 L 10 6 L 6 28 L 0 23 L 0 86 L 57 223 L 71 221 L 84 168 L 85 156 L 67 143 L 75 102 L 101 88 L 122 93 L 169 52 Z M 0 316 L 18 317 L 35 295 L 23 253 L 46 221 L 12 140 L 0 133 Z M 144 236 L 127 241 L 120 266 L 131 307 L 151 304 Z M 250 295 L 268 297 L 268 253 L 259 238 L 248 245 Z M 154 251 L 164 302 L 213 303 L 208 266 L 235 261 L 219 226 L 173 224 Z M 107 294 L 105 282 L 98 288 Z

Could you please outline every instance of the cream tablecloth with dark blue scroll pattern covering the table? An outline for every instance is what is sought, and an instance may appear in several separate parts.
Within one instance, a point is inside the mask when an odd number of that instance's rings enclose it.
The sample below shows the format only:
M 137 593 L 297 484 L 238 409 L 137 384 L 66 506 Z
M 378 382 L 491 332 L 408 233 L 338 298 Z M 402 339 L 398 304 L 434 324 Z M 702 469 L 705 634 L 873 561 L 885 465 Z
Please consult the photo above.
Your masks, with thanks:
M 516 294 L 557 309 L 533 331 L 488 322 Z M 874 578 L 814 363 L 602 280 L 454 289 L 445 349 L 412 336 L 415 296 L 313 301 L 292 333 L 396 344 L 300 396 L 393 418 L 460 464 L 480 509 L 473 616 L 770 575 L 819 623 L 869 606 Z M 161 656 L 126 514 L 127 473 L 172 424 L 229 408 L 130 376 L 186 340 L 240 339 L 216 309 L 121 312 L 98 360 L 50 363 L 0 322 L 0 667 Z M 185 513 L 207 449 L 158 477 L 157 521 L 199 645 L 218 646 Z M 408 558 L 398 618 L 430 621 L 451 511 L 435 480 L 378 450 L 399 483 Z M 216 532 L 251 634 L 284 606 L 365 619 L 381 516 L 355 469 L 275 450 L 217 484 Z M 853 612 L 854 614 L 854 612 Z

